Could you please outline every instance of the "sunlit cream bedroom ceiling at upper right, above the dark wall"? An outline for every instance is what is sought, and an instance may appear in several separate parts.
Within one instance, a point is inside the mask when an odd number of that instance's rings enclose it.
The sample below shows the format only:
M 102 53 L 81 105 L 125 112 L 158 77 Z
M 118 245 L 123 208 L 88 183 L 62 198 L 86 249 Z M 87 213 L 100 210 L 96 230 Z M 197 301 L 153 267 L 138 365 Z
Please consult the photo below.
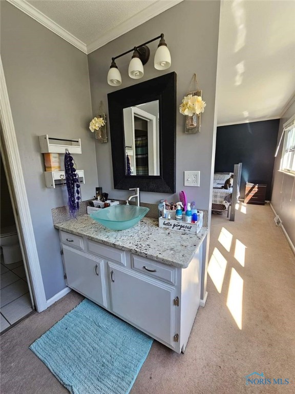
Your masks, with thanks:
M 218 124 L 281 117 L 295 92 L 295 2 L 222 3 Z

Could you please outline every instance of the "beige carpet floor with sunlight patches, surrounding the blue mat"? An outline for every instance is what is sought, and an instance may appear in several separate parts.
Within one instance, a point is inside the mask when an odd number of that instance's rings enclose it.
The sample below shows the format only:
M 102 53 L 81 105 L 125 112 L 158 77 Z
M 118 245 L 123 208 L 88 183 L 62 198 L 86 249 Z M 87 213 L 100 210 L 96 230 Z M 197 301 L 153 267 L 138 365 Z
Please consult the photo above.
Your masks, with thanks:
M 209 270 L 215 284 L 208 276 L 207 303 L 185 354 L 155 341 L 131 394 L 295 392 L 294 254 L 269 205 L 240 209 L 235 222 L 213 215 Z M 71 292 L 1 337 L 1 393 L 68 392 L 28 346 L 80 300 Z M 291 383 L 246 386 L 244 377 L 254 371 Z

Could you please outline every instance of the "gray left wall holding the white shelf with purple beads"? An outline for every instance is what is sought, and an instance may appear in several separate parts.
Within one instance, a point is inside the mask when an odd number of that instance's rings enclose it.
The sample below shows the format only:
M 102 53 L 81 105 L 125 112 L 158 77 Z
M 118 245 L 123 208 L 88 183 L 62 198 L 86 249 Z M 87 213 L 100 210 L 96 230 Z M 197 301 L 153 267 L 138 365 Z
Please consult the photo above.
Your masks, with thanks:
M 82 199 L 95 194 L 97 170 L 87 55 L 6 1 L 1 6 L 1 56 L 22 162 L 46 298 L 65 288 L 51 209 L 67 204 L 65 188 L 45 187 L 38 135 L 81 138 L 75 162 L 85 170 Z M 62 160 L 61 160 L 62 161 Z

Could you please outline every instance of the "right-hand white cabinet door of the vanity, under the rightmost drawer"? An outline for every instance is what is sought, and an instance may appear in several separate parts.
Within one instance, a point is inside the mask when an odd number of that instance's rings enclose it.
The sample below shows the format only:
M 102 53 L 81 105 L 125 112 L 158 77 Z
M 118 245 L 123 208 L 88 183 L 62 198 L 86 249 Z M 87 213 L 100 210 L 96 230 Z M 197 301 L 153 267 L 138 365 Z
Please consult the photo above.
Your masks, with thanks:
M 152 337 L 174 346 L 175 288 L 109 263 L 112 310 Z

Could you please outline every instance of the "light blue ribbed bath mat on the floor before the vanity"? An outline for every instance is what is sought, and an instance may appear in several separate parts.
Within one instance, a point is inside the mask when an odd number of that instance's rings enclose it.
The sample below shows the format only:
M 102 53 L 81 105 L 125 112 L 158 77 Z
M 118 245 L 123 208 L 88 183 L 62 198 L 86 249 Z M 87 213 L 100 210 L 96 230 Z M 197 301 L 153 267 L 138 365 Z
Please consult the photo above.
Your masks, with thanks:
M 72 394 L 127 394 L 153 339 L 89 300 L 30 349 Z

